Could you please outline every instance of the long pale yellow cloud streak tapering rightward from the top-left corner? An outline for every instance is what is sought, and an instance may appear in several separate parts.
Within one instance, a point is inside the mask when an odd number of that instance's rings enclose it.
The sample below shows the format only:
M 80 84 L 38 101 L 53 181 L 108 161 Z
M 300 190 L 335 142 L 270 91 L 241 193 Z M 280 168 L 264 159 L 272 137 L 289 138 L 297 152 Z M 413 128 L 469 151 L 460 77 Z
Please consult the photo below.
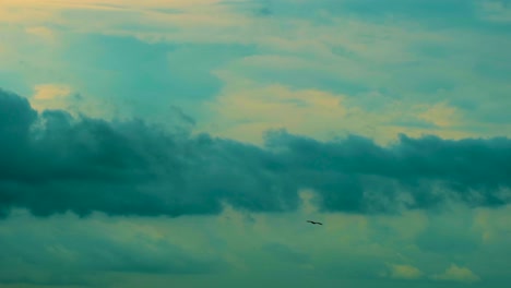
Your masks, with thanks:
M 402 47 L 407 41 L 447 39 L 439 34 L 408 32 L 400 25 L 382 26 L 360 21 L 332 19 L 332 26 L 314 25 L 310 21 L 293 20 L 285 29 L 280 20 L 251 17 L 219 4 L 221 0 L 3 0 L 0 22 L 22 25 L 59 23 L 72 31 L 97 32 L 135 36 L 146 41 L 199 41 L 199 43 L 250 43 L 293 52 L 308 52 L 324 57 L 322 65 L 331 70 L 346 68 L 343 58 L 332 53 L 332 47 L 343 47 L 363 53 L 369 61 L 406 60 L 412 57 Z M 166 13 L 161 9 L 177 9 L 183 13 Z M 97 10 L 114 12 L 112 16 L 94 17 L 94 21 L 69 19 L 62 10 Z M 134 13 L 118 13 L 118 12 Z M 112 28 L 127 23 L 140 25 L 143 29 Z M 403 25 L 405 26 L 405 25 Z M 182 31 L 175 27 L 183 28 Z M 154 29 L 151 29 L 154 28 Z M 168 28 L 168 29 L 166 29 Z M 144 31 L 144 32 L 141 32 Z M 336 35 L 336 37 L 331 37 Z M 365 36 L 361 36 L 365 35 Z M 383 35 L 367 38 L 367 35 Z M 309 58 L 311 59 L 311 58 Z M 314 59 L 318 60 L 318 59 Z M 343 76 L 368 77 L 367 69 L 349 63 Z

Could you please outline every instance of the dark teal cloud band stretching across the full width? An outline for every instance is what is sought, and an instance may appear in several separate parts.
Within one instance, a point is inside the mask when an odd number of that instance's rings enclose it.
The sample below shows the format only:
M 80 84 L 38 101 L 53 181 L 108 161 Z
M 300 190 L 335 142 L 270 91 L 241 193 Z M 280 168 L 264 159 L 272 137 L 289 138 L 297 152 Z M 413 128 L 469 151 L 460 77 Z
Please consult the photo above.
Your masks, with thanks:
M 294 209 L 298 190 L 348 213 L 428 208 L 448 200 L 506 204 L 511 140 L 409 139 L 392 146 L 350 135 L 319 142 L 273 131 L 260 148 L 143 121 L 37 113 L 0 92 L 0 211 L 34 215 L 215 214 L 226 201 L 253 212 Z

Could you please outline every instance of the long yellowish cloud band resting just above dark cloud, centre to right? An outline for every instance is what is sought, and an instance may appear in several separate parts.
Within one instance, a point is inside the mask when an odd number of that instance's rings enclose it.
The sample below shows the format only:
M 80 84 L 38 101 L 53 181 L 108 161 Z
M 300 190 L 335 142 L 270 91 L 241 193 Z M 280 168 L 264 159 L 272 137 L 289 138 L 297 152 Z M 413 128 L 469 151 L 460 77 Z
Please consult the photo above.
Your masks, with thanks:
M 399 133 L 457 140 L 474 134 L 463 125 L 467 117 L 447 101 L 406 103 L 380 93 L 354 97 L 282 84 L 261 85 L 223 72 L 218 76 L 226 85 L 218 97 L 204 104 L 211 120 L 199 125 L 214 135 L 262 144 L 264 131 L 283 128 L 322 141 L 358 133 L 385 145 Z M 371 104 L 360 100 L 363 97 L 368 101 L 370 97 Z

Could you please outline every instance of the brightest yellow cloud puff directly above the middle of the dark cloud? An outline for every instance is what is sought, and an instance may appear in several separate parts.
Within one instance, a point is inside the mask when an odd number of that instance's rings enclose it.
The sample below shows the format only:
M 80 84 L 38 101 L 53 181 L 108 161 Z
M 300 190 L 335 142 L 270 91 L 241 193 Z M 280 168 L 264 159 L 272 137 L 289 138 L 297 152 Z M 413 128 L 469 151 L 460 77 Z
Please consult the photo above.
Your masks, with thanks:
M 235 123 L 216 131 L 222 136 L 261 141 L 271 128 L 286 128 L 293 133 L 324 137 L 334 131 L 346 116 L 344 96 L 316 89 L 292 91 L 275 84 L 233 91 L 222 95 L 209 107 Z

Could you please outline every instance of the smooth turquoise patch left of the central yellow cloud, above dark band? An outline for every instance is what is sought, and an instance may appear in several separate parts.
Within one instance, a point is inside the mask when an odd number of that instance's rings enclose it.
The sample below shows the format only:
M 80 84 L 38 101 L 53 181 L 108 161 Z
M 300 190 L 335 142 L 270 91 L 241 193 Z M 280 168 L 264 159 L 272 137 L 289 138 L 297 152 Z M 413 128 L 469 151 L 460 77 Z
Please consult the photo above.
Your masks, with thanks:
M 173 106 L 199 107 L 213 97 L 223 84 L 211 71 L 253 50 L 243 45 L 147 44 L 132 37 L 87 35 L 69 41 L 59 59 L 72 63 L 62 69 L 71 75 L 62 75 L 62 82 L 99 104 L 82 112 L 107 110 L 103 115 L 108 118 L 162 123 L 168 121 Z

